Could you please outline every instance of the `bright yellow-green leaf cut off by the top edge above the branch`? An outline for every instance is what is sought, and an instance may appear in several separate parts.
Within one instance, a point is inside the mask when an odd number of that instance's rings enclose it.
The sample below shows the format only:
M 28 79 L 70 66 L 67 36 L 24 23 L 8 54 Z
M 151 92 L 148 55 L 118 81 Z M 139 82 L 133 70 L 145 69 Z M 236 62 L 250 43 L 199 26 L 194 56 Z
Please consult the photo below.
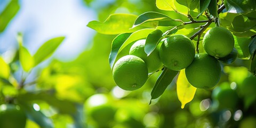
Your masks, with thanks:
M 165 11 L 178 11 L 183 14 L 188 13 L 188 8 L 175 0 L 156 0 L 156 7 Z

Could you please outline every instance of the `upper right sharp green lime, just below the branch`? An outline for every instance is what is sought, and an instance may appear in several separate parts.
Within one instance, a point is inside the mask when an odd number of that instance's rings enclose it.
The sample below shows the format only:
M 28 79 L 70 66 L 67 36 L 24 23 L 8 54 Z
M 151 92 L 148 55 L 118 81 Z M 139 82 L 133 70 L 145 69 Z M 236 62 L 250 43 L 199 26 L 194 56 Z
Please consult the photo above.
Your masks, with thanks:
M 214 27 L 206 32 L 203 46 L 206 53 L 213 57 L 226 57 L 233 51 L 235 40 L 230 31 L 223 27 Z

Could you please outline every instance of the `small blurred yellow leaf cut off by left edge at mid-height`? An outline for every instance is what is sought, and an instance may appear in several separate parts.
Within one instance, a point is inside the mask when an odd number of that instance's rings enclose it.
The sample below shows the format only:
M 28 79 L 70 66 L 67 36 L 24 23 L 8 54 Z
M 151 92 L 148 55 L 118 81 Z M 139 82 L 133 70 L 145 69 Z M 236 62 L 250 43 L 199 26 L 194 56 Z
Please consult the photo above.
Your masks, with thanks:
M 4 61 L 2 57 L 0 57 L 0 77 L 8 79 L 10 76 L 10 67 L 9 65 Z

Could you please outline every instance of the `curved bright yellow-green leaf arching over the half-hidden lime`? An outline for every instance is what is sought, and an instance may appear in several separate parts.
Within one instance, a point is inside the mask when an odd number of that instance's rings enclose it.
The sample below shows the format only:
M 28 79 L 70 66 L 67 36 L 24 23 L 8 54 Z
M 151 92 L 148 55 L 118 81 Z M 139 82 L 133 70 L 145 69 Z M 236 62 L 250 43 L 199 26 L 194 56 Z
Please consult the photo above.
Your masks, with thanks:
M 135 31 L 134 33 L 132 33 L 127 39 L 126 41 L 123 43 L 123 45 L 120 47 L 120 49 L 118 50 L 117 54 L 119 54 L 125 46 L 129 45 L 130 43 L 137 41 L 139 39 L 142 38 L 146 38 L 148 36 L 148 34 L 152 33 L 154 30 L 153 28 L 146 28 L 146 29 L 141 29 L 138 31 Z

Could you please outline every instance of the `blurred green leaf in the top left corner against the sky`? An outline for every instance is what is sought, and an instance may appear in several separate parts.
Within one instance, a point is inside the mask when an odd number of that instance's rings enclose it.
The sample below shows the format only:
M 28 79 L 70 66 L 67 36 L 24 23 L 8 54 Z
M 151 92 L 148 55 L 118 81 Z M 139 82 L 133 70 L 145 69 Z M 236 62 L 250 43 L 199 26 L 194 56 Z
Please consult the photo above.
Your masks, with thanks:
M 4 31 L 8 23 L 14 18 L 20 9 L 19 1 L 12 0 L 0 14 L 0 33 Z

